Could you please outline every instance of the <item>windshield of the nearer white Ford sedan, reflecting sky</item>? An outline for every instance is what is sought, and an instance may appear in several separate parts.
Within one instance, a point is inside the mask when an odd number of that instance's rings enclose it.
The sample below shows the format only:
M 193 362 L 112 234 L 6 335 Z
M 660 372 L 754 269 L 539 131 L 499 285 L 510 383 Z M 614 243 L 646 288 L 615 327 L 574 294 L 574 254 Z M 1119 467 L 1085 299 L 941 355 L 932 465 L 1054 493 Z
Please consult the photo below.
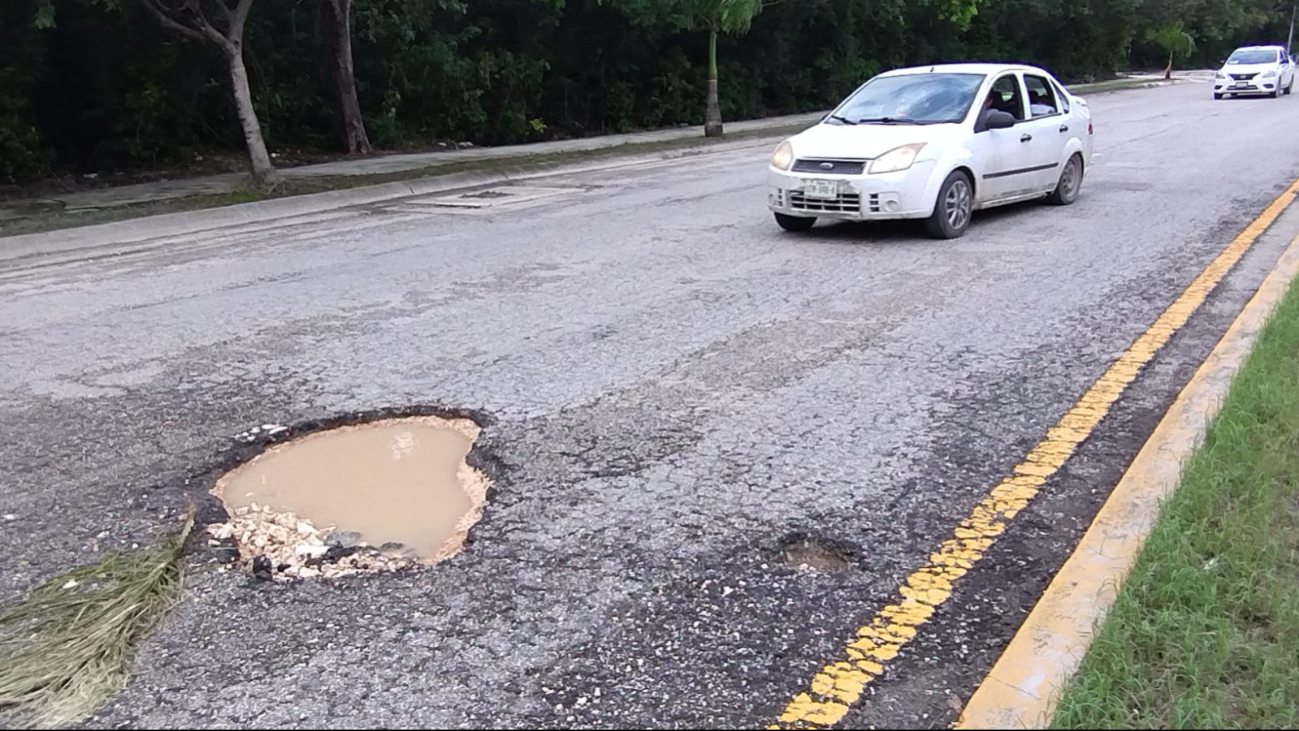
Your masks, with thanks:
M 982 74 L 876 77 L 830 117 L 831 125 L 942 125 L 965 119 Z

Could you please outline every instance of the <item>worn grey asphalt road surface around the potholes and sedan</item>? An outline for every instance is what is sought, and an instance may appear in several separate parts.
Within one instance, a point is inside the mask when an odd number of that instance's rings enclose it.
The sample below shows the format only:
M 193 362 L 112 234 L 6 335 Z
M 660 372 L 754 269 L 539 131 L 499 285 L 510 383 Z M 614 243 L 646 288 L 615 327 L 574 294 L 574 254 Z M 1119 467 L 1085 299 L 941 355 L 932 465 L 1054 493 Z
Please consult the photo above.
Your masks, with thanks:
M 470 409 L 465 553 L 271 586 L 199 551 L 90 725 L 766 726 L 1299 174 L 1299 99 L 1091 103 L 1083 197 L 957 242 L 782 234 L 764 145 L 0 266 L 0 596 L 220 517 L 248 427 Z M 1299 216 L 1274 229 L 848 726 L 955 718 Z M 785 566 L 804 535 L 847 566 Z

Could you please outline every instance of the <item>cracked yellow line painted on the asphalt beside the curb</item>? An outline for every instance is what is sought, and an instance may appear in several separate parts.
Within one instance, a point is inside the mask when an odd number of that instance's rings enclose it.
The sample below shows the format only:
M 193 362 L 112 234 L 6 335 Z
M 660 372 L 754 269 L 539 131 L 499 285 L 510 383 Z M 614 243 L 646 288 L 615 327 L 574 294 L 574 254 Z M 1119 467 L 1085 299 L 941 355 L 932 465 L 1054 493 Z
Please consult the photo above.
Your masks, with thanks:
M 808 689 L 786 705 L 779 723 L 772 728 L 829 727 L 847 715 L 848 709 L 861 699 L 865 687 L 883 673 L 885 665 L 914 639 L 920 627 L 952 596 L 955 583 L 987 553 L 1005 530 L 1007 521 L 1028 506 L 1047 479 L 1091 436 L 1141 369 L 1186 325 L 1222 277 L 1241 261 L 1296 195 L 1299 180 L 1204 267 L 1159 319 L 1047 431 L 1046 439 L 1015 466 L 1011 477 L 994 487 L 929 561 L 907 576 L 895 601 L 860 627 L 856 639 L 843 649 L 842 656 L 825 665 L 812 678 Z

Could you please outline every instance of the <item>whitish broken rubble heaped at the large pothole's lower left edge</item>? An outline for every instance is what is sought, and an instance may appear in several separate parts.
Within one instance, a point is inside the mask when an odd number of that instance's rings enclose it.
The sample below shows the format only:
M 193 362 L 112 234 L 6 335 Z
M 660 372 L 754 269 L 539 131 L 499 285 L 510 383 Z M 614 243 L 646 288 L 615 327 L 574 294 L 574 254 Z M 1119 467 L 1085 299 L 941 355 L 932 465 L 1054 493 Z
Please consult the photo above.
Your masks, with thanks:
M 213 543 L 234 540 L 240 569 L 279 582 L 396 571 L 417 564 L 414 556 L 400 548 L 381 551 L 365 543 L 330 545 L 326 538 L 333 531 L 333 526 L 317 528 L 310 521 L 294 513 L 275 513 L 266 505 L 236 508 L 229 522 L 208 526 Z

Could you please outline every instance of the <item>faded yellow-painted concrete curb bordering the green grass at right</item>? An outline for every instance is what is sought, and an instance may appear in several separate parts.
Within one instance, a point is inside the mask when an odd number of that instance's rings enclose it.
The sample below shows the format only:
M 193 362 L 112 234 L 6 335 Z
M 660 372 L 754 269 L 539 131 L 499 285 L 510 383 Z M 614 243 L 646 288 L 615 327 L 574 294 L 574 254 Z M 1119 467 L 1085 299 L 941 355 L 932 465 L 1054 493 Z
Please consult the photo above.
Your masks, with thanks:
M 1182 464 L 1204 438 L 1235 373 L 1299 274 L 1299 238 L 1204 360 L 1155 427 L 1069 561 L 974 692 L 956 728 L 1042 728 L 1091 644 L 1092 627 L 1159 518 L 1160 501 L 1181 480 Z

